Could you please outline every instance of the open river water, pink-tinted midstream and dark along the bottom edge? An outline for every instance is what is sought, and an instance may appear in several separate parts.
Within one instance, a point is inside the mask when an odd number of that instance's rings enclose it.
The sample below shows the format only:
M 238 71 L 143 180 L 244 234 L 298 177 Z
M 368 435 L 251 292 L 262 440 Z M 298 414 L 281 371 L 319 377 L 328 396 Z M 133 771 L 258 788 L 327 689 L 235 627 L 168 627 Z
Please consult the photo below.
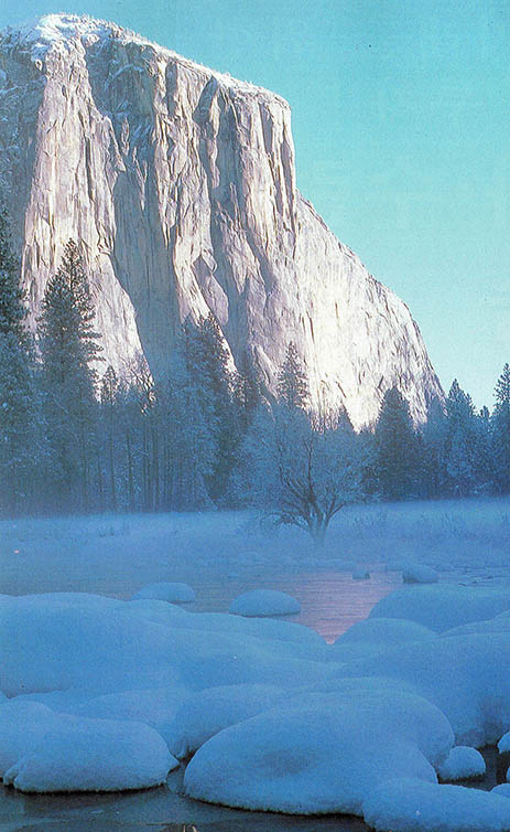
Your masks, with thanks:
M 245 570 L 243 577 L 215 570 L 197 574 L 197 601 L 187 609 L 226 611 L 230 600 L 254 587 L 287 591 L 302 605 L 299 616 L 287 616 L 313 627 L 328 641 L 366 618 L 372 606 L 398 586 L 398 573 L 376 572 L 368 580 L 354 580 L 350 573 L 318 572 L 293 575 Z M 116 586 L 118 596 L 135 587 Z M 107 587 L 101 586 L 106 593 Z M 119 591 L 119 589 L 121 591 Z M 123 590 L 123 591 L 122 591 Z M 241 812 L 208 806 L 180 794 L 182 772 L 171 774 L 167 788 L 116 794 L 24 796 L 12 789 L 0 791 L 2 832 L 362 832 L 368 826 L 358 818 L 299 818 L 262 812 Z

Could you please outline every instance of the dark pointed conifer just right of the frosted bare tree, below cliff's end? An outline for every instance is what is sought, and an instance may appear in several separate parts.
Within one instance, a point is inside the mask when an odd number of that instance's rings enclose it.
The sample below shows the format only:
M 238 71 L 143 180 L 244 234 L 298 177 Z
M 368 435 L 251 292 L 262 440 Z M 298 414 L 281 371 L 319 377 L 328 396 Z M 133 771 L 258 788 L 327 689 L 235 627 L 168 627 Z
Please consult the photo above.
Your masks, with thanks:
M 397 387 L 382 399 L 375 431 L 379 487 L 387 500 L 402 500 L 416 492 L 419 447 L 409 405 Z

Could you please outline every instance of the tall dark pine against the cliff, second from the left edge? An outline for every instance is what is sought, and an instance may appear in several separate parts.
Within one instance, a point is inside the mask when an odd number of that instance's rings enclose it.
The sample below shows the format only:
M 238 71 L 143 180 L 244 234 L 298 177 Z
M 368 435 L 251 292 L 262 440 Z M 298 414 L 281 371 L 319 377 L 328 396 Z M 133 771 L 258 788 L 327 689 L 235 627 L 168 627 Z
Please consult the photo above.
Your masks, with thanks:
M 94 306 L 79 249 L 65 247 L 48 280 L 39 320 L 42 386 L 51 447 L 50 476 L 59 509 L 90 506 L 96 362 L 100 346 Z

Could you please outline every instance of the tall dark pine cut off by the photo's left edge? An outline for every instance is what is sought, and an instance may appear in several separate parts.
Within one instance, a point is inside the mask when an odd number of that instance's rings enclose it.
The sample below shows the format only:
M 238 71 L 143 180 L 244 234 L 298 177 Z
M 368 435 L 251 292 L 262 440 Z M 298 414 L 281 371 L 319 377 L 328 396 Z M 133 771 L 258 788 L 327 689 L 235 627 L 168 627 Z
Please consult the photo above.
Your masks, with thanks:
M 26 510 L 41 446 L 36 438 L 33 350 L 23 321 L 20 286 L 7 212 L 0 211 L 0 511 Z

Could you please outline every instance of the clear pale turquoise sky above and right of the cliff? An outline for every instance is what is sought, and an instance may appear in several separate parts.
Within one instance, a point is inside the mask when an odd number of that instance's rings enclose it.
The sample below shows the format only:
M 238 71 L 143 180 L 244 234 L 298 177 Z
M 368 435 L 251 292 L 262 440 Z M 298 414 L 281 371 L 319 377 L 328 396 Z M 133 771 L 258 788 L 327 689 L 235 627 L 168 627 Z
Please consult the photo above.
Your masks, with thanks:
M 62 1 L 62 0 L 61 0 Z M 297 184 L 411 308 L 447 391 L 510 362 L 508 0 L 2 0 L 113 20 L 282 95 Z

